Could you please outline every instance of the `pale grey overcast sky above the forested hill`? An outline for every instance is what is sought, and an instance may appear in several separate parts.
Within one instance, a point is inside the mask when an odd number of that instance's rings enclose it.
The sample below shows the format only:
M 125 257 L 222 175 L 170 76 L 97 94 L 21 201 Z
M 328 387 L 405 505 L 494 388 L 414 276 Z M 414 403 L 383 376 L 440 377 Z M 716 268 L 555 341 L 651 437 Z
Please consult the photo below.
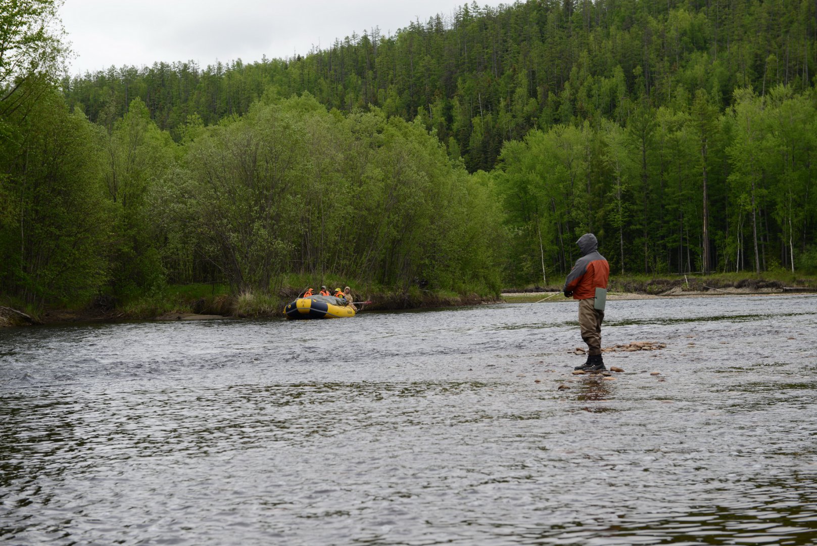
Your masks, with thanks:
M 216 60 L 245 63 L 306 55 L 335 38 L 379 26 L 381 34 L 419 17 L 450 17 L 464 0 L 65 0 L 62 22 L 74 53 L 70 73 L 110 65 Z M 470 2 L 468 2 L 470 4 Z M 496 7 L 502 2 L 478 2 Z M 506 0 L 505 3 L 511 3 Z

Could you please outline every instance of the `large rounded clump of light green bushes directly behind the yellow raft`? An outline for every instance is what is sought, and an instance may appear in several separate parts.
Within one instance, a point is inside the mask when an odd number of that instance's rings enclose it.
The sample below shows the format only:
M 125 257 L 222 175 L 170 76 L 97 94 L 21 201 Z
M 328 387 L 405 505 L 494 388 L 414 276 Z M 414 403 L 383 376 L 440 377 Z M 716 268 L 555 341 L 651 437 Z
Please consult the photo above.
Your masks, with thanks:
M 482 233 L 501 223 L 489 187 L 419 121 L 343 116 L 304 95 L 258 103 L 185 148 L 151 209 L 173 248 L 194 249 L 188 259 L 198 253 L 238 293 L 275 290 L 290 273 L 301 275 L 294 285 L 498 291 L 495 239 Z

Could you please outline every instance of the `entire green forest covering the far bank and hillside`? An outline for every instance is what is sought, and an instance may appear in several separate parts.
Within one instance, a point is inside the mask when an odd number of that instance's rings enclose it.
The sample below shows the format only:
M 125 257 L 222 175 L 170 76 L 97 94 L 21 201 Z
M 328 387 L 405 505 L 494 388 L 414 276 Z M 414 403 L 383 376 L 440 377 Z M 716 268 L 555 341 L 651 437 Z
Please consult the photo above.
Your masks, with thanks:
M 0 7 L 16 301 L 290 275 L 498 293 L 563 277 L 587 231 L 620 275 L 817 269 L 814 0 L 472 3 L 74 77 L 59 2 Z

